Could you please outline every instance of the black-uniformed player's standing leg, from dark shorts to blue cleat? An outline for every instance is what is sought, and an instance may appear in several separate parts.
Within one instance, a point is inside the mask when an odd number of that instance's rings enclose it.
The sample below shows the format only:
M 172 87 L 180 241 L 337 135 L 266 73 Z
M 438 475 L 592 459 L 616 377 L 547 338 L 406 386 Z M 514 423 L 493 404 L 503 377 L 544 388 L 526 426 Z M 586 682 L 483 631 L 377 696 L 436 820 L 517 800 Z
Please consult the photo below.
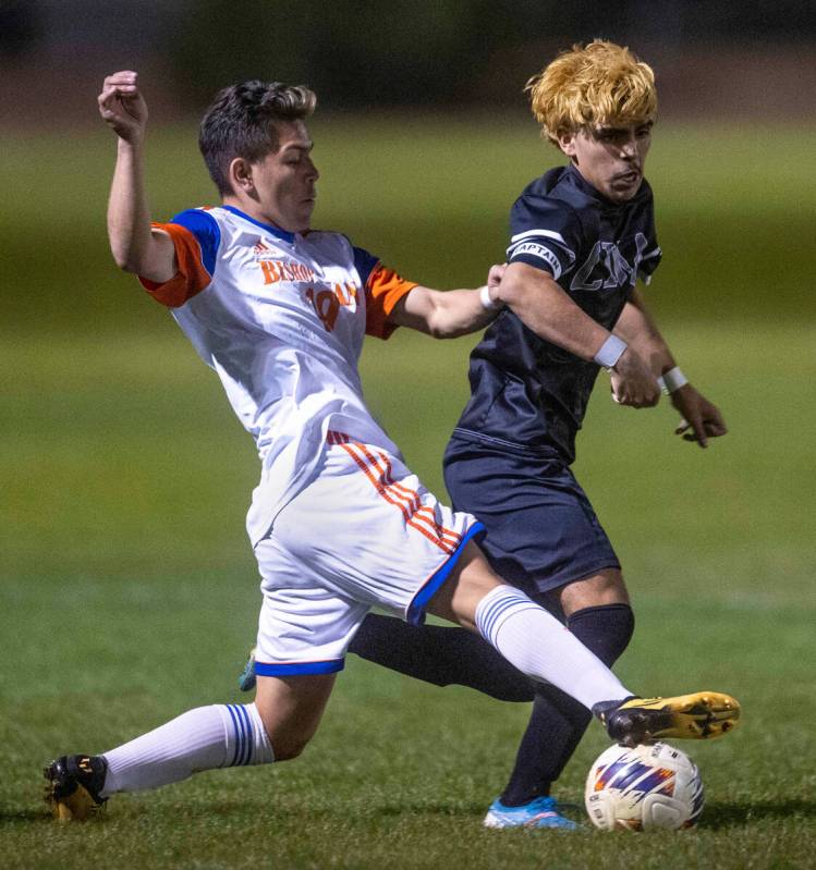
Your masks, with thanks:
M 553 454 L 522 454 L 454 433 L 444 479 L 454 502 L 485 524 L 485 554 L 497 573 L 527 590 L 611 666 L 629 641 L 632 612 L 614 550 L 567 464 Z M 583 604 L 571 601 L 588 610 L 568 622 L 570 609 L 559 591 L 584 586 L 597 587 L 597 595 Z M 601 608 L 589 610 L 596 604 Z M 549 797 L 550 787 L 588 721 L 582 704 L 538 684 L 514 769 L 485 823 L 569 826 Z

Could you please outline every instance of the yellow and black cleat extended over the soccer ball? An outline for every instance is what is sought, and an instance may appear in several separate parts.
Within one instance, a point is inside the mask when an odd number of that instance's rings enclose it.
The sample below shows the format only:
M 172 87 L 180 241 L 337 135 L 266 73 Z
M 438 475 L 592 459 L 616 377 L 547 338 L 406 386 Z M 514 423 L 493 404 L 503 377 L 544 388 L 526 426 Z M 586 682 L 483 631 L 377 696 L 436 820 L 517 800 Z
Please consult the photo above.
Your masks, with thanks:
M 736 726 L 740 703 L 719 691 L 697 691 L 675 698 L 630 698 L 596 714 L 613 740 L 633 747 L 655 740 L 721 737 Z

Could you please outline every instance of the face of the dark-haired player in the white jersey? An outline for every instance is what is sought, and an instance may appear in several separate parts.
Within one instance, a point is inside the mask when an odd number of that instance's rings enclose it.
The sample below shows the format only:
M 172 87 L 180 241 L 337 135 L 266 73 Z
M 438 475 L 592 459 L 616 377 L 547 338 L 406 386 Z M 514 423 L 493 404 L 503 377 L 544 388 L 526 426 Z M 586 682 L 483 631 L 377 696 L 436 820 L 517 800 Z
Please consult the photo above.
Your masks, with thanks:
M 320 175 L 312 161 L 313 143 L 303 121 L 278 122 L 276 130 L 278 150 L 252 166 L 253 198 L 264 222 L 303 233 L 312 222 Z

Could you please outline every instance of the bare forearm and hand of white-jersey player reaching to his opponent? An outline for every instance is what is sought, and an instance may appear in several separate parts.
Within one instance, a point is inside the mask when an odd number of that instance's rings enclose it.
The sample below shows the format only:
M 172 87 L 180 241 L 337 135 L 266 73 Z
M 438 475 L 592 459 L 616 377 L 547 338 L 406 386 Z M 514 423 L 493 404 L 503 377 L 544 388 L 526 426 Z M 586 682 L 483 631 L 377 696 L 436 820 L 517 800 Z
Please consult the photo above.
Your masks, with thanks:
M 487 284 L 478 290 L 431 290 L 415 286 L 393 307 L 388 319 L 435 339 L 455 339 L 484 329 L 501 310 L 497 302 L 504 266 L 491 266 Z

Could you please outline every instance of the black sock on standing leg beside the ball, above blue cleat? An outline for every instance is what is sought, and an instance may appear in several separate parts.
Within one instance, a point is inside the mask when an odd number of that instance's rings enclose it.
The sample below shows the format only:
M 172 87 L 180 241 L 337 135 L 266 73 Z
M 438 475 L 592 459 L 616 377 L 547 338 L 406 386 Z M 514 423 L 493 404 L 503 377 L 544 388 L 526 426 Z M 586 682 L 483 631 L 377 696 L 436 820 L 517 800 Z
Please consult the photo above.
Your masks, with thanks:
M 568 618 L 567 626 L 611 667 L 632 637 L 634 614 L 629 604 L 584 608 Z M 536 686 L 533 712 L 501 802 L 520 807 L 535 797 L 548 795 L 590 720 L 592 713 L 569 695 L 553 686 Z

